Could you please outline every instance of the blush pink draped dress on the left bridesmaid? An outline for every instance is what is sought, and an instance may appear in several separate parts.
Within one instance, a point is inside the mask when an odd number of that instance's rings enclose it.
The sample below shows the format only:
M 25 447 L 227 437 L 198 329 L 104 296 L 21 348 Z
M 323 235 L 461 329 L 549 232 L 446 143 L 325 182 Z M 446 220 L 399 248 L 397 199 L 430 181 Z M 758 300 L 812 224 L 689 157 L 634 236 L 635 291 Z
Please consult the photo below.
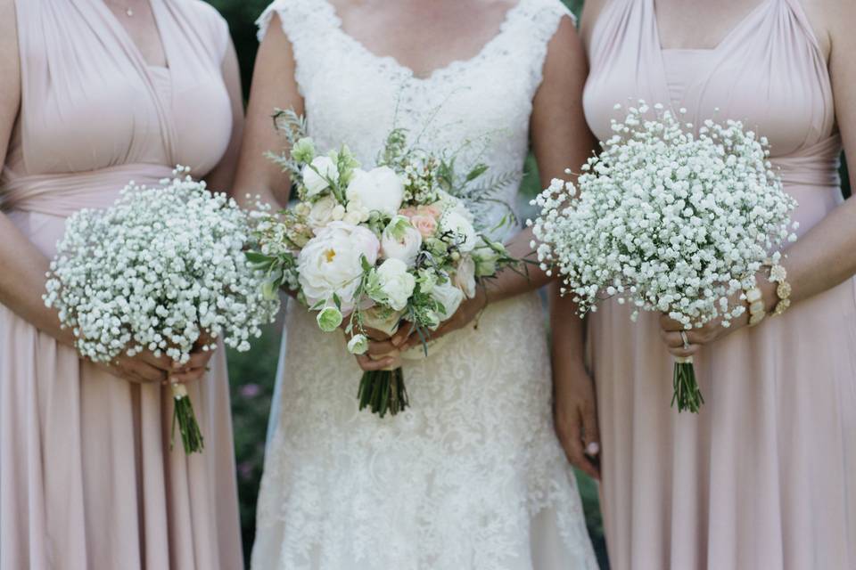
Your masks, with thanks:
M 19 0 L 21 112 L 0 206 L 45 256 L 78 208 L 177 163 L 205 175 L 230 139 L 226 22 L 152 0 L 169 69 L 146 65 L 102 0 Z M 190 387 L 205 452 L 169 452 L 169 389 L 82 362 L 0 305 L 0 569 L 242 566 L 226 362 Z

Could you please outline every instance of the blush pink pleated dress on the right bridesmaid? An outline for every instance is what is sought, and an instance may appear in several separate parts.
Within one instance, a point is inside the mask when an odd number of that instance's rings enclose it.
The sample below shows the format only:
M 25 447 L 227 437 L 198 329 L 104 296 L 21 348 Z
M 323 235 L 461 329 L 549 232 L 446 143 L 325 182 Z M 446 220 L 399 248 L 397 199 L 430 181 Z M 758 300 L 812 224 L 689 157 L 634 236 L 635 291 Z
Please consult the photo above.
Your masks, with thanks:
M 654 0 L 611 0 L 590 60 L 601 140 L 613 105 L 638 98 L 695 124 L 742 119 L 770 138 L 801 234 L 841 204 L 830 77 L 798 0 L 762 0 L 712 50 L 663 50 Z M 591 319 L 613 568 L 856 568 L 854 281 L 705 346 L 697 416 L 669 407 L 657 316 L 611 304 Z

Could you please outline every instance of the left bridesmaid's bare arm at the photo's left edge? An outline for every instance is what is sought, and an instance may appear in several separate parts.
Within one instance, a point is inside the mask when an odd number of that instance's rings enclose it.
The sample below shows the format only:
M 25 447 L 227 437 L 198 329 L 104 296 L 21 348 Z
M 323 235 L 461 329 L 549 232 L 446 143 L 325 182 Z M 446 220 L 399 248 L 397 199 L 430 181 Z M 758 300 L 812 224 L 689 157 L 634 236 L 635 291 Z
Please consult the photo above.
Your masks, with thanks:
M 21 66 L 13 0 L 0 0 L 0 157 L 6 157 L 12 128 L 21 108 Z M 22 234 L 8 216 L 0 213 L 0 303 L 38 330 L 71 346 L 69 330 L 45 307 L 45 273 L 50 261 Z

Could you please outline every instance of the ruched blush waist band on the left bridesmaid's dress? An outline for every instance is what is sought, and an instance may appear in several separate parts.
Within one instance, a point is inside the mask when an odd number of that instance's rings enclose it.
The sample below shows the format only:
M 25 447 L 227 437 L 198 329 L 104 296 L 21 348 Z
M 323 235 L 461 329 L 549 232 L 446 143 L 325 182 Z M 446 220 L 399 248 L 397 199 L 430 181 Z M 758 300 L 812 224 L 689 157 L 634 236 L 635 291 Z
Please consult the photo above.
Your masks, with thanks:
M 0 210 L 68 217 L 83 208 L 111 207 L 129 182 L 154 186 L 171 176 L 171 167 L 152 164 L 62 175 L 6 175 L 0 183 Z

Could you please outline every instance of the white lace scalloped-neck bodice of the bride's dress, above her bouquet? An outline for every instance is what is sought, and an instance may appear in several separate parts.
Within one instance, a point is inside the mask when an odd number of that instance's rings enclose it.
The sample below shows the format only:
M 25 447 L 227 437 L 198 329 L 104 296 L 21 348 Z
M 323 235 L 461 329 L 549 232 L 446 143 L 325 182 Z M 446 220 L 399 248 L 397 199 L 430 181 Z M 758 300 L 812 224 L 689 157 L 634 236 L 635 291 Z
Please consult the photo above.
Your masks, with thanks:
M 371 166 L 393 126 L 407 128 L 411 137 L 424 132 L 420 144 L 429 150 L 471 141 L 462 159 L 478 155 L 492 175 L 509 175 L 512 182 L 494 198 L 514 208 L 547 44 L 562 17 L 572 17 L 564 4 L 520 0 L 477 55 L 428 77 L 370 52 L 345 32 L 327 0 L 277 0 L 259 19 L 259 38 L 274 13 L 292 42 L 309 134 L 321 148 L 345 142 Z M 506 213 L 494 204 L 479 212 L 480 222 L 493 227 Z M 515 228 L 503 230 L 495 237 Z

